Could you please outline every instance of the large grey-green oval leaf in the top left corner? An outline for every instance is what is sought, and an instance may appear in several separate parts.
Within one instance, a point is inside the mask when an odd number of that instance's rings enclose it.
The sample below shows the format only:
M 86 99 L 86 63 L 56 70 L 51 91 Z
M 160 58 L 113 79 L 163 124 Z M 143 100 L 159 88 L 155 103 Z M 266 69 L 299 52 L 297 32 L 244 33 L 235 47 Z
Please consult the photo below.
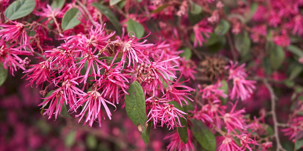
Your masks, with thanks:
M 19 19 L 32 13 L 35 7 L 35 0 L 17 0 L 6 8 L 4 15 L 9 20 Z

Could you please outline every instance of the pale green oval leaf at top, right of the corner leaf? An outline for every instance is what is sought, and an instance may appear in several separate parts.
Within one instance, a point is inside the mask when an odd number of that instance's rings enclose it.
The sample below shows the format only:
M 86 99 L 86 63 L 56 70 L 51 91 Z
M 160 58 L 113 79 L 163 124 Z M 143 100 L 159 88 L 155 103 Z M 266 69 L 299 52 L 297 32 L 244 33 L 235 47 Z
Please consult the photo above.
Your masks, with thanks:
M 62 18 L 62 24 L 61 24 L 62 29 L 68 30 L 80 24 L 81 21 L 78 19 L 80 18 L 80 14 L 81 12 L 79 11 L 78 8 L 69 9 Z

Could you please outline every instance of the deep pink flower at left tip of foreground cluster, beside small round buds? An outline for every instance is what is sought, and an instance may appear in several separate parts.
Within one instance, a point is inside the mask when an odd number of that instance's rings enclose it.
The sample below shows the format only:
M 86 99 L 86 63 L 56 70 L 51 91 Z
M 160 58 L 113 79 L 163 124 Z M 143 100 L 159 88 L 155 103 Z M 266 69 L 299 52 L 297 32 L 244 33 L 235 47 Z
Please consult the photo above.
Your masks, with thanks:
M 54 76 L 55 74 L 52 72 L 50 63 L 48 61 L 43 61 L 39 64 L 29 65 L 29 66 L 33 66 L 33 68 L 24 71 L 23 73 L 26 73 L 26 74 L 22 77 L 22 78 L 24 78 L 25 76 L 27 76 L 27 78 L 25 80 L 30 81 L 30 83 L 28 85 L 31 85 L 31 87 L 33 87 L 34 82 L 36 81 L 36 83 L 35 83 L 36 88 L 38 88 L 38 85 L 45 81 L 52 83 L 51 77 Z M 29 75 L 30 73 L 32 73 L 32 74 Z M 26 86 L 28 86 L 28 85 L 26 85 Z

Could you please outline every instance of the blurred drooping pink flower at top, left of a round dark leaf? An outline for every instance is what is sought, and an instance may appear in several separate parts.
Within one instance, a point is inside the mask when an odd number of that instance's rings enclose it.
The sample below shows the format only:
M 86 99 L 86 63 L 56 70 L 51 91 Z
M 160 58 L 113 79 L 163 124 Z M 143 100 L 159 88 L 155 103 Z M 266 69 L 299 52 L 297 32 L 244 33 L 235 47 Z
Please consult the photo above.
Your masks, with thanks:
M 202 47 L 203 42 L 206 40 L 204 39 L 202 33 L 205 35 L 205 37 L 209 38 L 209 34 L 212 32 L 212 27 L 208 25 L 208 21 L 206 18 L 198 22 L 193 27 L 194 34 L 195 34 L 195 41 L 194 41 L 194 47 L 197 47 L 197 44 L 199 44 L 199 47 Z

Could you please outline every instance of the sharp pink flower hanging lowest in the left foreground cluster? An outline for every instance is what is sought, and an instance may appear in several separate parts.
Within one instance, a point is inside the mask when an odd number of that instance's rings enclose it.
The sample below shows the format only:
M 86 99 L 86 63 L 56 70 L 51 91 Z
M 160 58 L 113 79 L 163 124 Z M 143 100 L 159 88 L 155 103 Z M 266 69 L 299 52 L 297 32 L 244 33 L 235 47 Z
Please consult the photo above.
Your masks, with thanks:
M 93 87 L 93 89 L 95 89 L 95 88 Z M 106 103 L 111 104 L 116 108 L 115 104 L 113 104 L 110 101 L 105 100 L 101 96 L 101 94 L 98 92 L 98 90 L 95 89 L 93 91 L 88 91 L 87 94 L 84 95 L 82 98 L 80 98 L 76 102 L 74 107 L 71 109 L 77 109 L 83 105 L 83 109 L 80 112 L 80 114 L 76 115 L 76 117 L 81 116 L 79 119 L 79 123 L 80 123 L 80 120 L 82 120 L 82 118 L 87 113 L 83 125 L 85 125 L 88 122 L 88 125 L 92 127 L 93 122 L 98 119 L 99 126 L 101 127 L 102 116 L 105 119 L 105 116 L 101 110 L 101 106 L 103 106 L 105 108 L 108 118 L 110 120 L 112 119 L 111 111 L 109 110 Z

